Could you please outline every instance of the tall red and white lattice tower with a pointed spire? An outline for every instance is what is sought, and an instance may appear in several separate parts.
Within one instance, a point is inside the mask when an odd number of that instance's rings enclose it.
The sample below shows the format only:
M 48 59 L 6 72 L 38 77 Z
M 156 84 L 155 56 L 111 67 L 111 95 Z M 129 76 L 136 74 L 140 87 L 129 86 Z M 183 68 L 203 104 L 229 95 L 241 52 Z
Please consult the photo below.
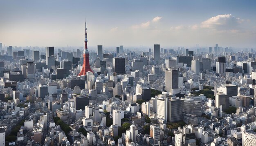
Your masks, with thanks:
M 85 48 L 83 51 L 83 68 L 81 70 L 81 72 L 79 73 L 78 76 L 81 75 L 86 75 L 86 72 L 90 71 L 93 73 L 91 66 L 90 66 L 90 62 L 89 62 L 89 52 L 88 52 L 88 47 L 87 47 L 87 28 L 86 28 L 86 22 L 85 22 Z

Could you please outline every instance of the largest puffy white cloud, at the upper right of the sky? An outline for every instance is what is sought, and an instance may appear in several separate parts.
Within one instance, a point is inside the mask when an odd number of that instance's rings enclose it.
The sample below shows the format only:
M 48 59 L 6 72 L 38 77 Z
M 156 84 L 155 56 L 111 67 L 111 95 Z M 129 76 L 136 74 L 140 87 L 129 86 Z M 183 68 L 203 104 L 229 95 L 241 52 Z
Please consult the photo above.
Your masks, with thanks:
M 201 27 L 215 30 L 231 30 L 237 29 L 241 22 L 243 22 L 243 20 L 236 18 L 231 14 L 217 15 L 202 22 Z

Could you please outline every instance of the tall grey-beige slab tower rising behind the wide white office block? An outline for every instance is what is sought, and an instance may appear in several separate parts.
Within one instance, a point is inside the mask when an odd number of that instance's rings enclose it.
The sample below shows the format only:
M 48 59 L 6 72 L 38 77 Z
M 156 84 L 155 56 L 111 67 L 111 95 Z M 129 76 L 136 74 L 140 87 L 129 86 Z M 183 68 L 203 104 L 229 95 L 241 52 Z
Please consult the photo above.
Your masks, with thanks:
M 174 68 L 165 69 L 165 90 L 171 95 L 179 91 L 179 74 Z

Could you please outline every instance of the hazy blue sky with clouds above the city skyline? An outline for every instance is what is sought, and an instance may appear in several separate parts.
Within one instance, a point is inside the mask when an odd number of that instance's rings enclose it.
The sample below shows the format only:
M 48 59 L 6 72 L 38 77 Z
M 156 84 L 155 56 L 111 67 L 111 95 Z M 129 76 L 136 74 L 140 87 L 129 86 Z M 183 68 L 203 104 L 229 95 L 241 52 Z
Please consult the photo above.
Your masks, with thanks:
M 0 0 L 12 46 L 256 48 L 255 0 Z

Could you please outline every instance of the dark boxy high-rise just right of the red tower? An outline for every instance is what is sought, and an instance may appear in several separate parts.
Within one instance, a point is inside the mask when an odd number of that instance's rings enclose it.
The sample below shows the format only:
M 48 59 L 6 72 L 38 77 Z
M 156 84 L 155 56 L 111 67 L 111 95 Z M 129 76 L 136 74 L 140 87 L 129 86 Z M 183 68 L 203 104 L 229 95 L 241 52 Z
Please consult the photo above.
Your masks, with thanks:
M 125 58 L 113 58 L 113 72 L 117 75 L 125 74 Z

